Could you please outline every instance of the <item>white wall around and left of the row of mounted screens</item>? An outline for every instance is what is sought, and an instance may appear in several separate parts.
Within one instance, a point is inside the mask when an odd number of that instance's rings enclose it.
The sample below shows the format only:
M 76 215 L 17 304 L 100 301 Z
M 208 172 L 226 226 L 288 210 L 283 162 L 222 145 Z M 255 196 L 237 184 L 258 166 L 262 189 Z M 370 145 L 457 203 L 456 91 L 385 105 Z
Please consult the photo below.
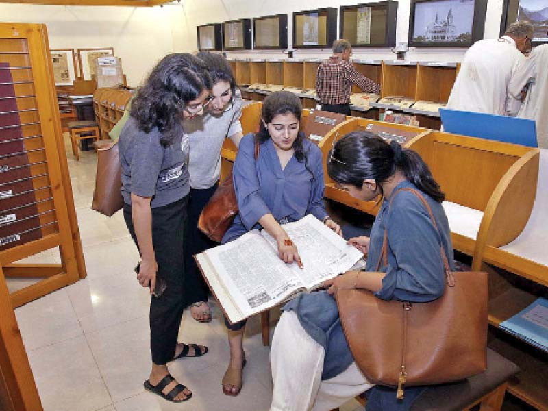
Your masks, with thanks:
M 2 21 L 45 23 L 52 49 L 114 47 L 130 86 L 138 86 L 160 58 L 197 49 L 197 25 L 236 18 L 363 3 L 367 0 L 182 0 L 164 7 L 86 7 L 0 3 Z M 377 0 L 373 0 L 377 1 Z M 503 0 L 488 0 L 485 34 L 497 38 Z M 410 0 L 399 0 L 397 42 L 407 42 Z M 291 18 L 290 25 L 291 25 Z M 291 36 L 291 27 L 289 27 Z M 462 60 L 465 49 L 411 49 L 408 60 Z M 279 51 L 229 52 L 232 57 L 283 58 Z M 325 58 L 329 50 L 299 50 L 295 58 Z M 393 59 L 388 49 L 355 49 L 354 58 Z

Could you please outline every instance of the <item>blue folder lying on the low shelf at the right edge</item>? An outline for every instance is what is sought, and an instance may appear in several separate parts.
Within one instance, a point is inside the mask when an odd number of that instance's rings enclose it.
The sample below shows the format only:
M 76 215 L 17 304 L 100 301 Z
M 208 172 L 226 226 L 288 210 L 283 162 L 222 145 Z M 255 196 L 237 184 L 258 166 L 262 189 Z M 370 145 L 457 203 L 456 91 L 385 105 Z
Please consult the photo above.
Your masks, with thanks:
M 538 298 L 499 327 L 548 352 L 548 299 Z

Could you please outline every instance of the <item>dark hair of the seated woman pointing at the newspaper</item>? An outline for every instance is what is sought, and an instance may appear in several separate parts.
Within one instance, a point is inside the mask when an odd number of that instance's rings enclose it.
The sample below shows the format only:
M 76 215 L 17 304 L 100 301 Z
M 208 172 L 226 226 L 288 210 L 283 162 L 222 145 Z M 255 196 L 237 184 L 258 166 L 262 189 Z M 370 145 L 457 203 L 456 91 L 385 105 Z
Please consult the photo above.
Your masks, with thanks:
M 293 114 L 300 122 L 303 115 L 303 105 L 301 99 L 288 91 L 277 91 L 266 97 L 262 102 L 262 120 L 264 123 L 271 123 L 275 116 L 279 114 Z M 260 122 L 259 132 L 256 134 L 256 138 L 262 144 L 266 140 L 270 139 L 269 130 L 264 127 L 263 121 Z M 293 142 L 293 149 L 295 150 L 295 158 L 298 162 L 303 162 L 306 169 L 312 177 L 314 173 L 308 169 L 307 157 L 303 148 L 303 140 L 305 139 L 304 133 L 299 132 L 297 138 Z

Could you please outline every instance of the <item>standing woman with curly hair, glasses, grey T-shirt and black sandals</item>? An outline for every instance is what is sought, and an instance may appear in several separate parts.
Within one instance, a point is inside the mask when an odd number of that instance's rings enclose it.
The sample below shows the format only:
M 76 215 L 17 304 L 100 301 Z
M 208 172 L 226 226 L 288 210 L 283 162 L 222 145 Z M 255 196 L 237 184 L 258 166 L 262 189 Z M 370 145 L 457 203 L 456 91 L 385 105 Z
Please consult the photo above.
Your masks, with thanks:
M 200 116 L 211 79 L 190 54 L 167 55 L 134 97 L 120 140 L 123 214 L 142 258 L 137 279 L 151 292 L 151 373 L 145 388 L 172 402 L 192 392 L 167 363 L 198 357 L 202 345 L 177 343 L 184 309 L 184 226 L 188 192 L 188 136 L 181 121 Z

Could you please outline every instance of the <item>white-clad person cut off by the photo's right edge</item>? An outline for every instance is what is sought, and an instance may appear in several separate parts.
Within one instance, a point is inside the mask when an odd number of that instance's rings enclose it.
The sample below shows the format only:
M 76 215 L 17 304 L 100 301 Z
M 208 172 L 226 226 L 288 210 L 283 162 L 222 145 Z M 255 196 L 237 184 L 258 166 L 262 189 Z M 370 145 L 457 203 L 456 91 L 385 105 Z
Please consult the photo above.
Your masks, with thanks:
M 538 147 L 548 149 L 548 45 L 535 47 L 520 65 L 521 75 L 510 82 L 510 92 L 518 92 L 529 83 L 527 97 L 518 117 L 536 123 Z

